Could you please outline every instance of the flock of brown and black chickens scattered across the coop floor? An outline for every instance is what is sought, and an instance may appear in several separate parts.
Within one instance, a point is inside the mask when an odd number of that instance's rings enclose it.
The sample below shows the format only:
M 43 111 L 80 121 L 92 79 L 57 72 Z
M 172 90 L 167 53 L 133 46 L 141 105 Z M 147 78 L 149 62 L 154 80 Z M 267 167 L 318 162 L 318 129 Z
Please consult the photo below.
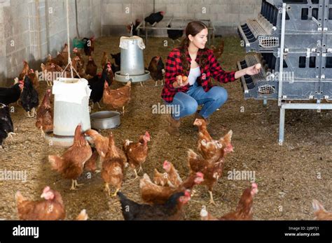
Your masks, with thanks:
M 119 89 L 111 89 L 113 73 L 120 70 L 120 54 L 112 54 L 115 64 L 111 64 L 109 57 L 104 52 L 102 57 L 102 73 L 97 74 L 97 65 L 92 58 L 95 38 L 86 38 L 90 45 L 85 46 L 85 55 L 88 63 L 84 67 L 81 52 L 74 48 L 72 53 L 72 66 L 76 70 L 76 77 L 88 80 L 92 93 L 90 99 L 92 105 L 99 101 L 114 109 L 123 109 L 130 102 L 131 83 Z M 218 57 L 223 53 L 223 43 L 214 52 Z M 62 52 L 57 57 L 48 56 L 46 64 L 41 64 L 41 73 L 44 80 L 51 86 L 57 73 L 71 75 L 68 68 L 68 46 L 64 45 Z M 163 80 L 164 64 L 161 57 L 151 59 L 148 70 L 155 80 Z M 13 121 L 11 120 L 8 105 L 20 99 L 20 104 L 27 111 L 28 117 L 36 116 L 36 128 L 44 135 L 53 130 L 53 107 L 51 101 L 51 89 L 46 90 L 43 101 L 39 105 L 38 92 L 40 73 L 29 68 L 24 62 L 24 68 L 15 84 L 11 88 L 0 88 L 0 145 L 7 137 L 13 135 Z M 37 109 L 37 111 L 36 111 Z M 223 176 L 223 166 L 226 155 L 233 152 L 231 139 L 233 132 L 229 131 L 219 140 L 214 140 L 207 131 L 204 119 L 195 119 L 198 127 L 198 152 L 188 149 L 188 168 L 190 170 L 186 178 L 179 176 L 176 168 L 169 161 L 165 161 L 162 168 L 165 172 L 154 171 L 153 179 L 147 174 L 139 179 L 141 199 L 144 204 L 130 200 L 123 194 L 121 186 L 127 179 L 127 168 L 134 171 L 135 180 L 143 170 L 142 165 L 148 156 L 148 142 L 150 134 L 139 136 L 137 142 L 123 141 L 122 148 L 116 146 L 113 134 L 104 137 L 95 130 L 83 132 L 81 124 L 78 124 L 74 135 L 74 144 L 64 154 L 49 155 L 50 168 L 60 173 L 64 179 L 71 180 L 71 190 L 76 190 L 80 184 L 77 179 L 84 171 L 99 173 L 104 181 L 104 188 L 109 196 L 118 196 L 123 218 L 125 220 L 181 220 L 184 219 L 184 207 L 195 194 L 194 187 L 205 185 L 209 190 L 210 203 L 216 205 L 213 198 L 213 188 L 216 182 Z M 91 142 L 85 140 L 85 136 L 92 138 Z M 112 191 L 114 191 L 112 193 Z M 251 220 L 253 218 L 253 199 L 258 193 L 258 186 L 252 183 L 244 189 L 242 196 L 233 212 L 220 217 L 212 216 L 202 207 L 200 216 L 202 220 Z M 63 220 L 66 219 L 64 201 L 60 192 L 46 186 L 41 194 L 43 200 L 32 201 L 23 197 L 18 191 L 15 199 L 18 207 L 18 216 L 23 220 Z M 332 219 L 332 213 L 327 212 L 317 200 L 312 202 L 317 219 Z M 85 209 L 76 217 L 76 220 L 87 220 Z

